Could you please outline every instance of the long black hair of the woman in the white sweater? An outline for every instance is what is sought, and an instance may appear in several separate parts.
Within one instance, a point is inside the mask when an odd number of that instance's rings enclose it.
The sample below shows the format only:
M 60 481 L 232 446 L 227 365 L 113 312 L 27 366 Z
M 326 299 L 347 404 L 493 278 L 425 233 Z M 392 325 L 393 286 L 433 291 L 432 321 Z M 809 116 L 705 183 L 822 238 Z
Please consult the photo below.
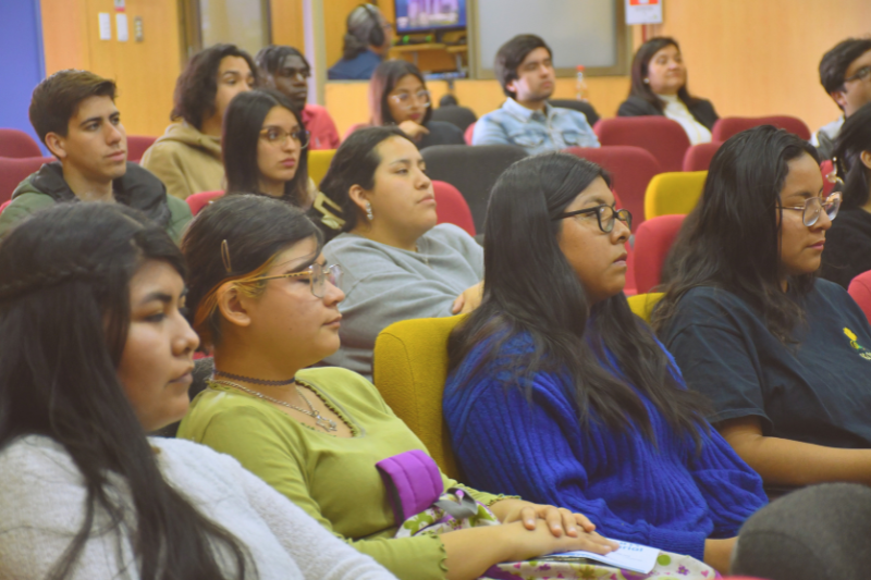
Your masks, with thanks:
M 91 534 L 121 530 L 123 478 L 135 510 L 137 577 L 248 578 L 247 550 L 162 477 L 118 379 L 131 319 L 130 281 L 145 260 L 184 275 L 162 229 L 119 205 L 59 205 L 22 222 L 0 245 L 0 449 L 24 435 L 61 444 L 87 490 L 84 522 L 54 566 L 70 578 Z M 105 511 L 110 527 L 97 523 Z M 119 534 L 121 542 L 121 534 Z M 38 546 L 35 546 L 38 547 Z M 121 546 L 119 545 L 119 551 Z M 221 550 L 235 560 L 230 575 Z

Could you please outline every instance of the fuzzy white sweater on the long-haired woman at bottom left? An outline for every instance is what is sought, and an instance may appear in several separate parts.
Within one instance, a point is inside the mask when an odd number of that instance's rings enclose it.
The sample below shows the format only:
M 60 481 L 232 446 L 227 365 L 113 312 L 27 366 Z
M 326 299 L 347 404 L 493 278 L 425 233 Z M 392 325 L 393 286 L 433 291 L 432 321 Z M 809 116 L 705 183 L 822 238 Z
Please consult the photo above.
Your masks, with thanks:
M 150 441 L 167 481 L 248 547 L 261 580 L 394 578 L 232 457 L 188 441 Z M 44 578 L 78 531 L 85 497 L 78 469 L 53 440 L 28 435 L 0 452 L 0 579 Z M 125 525 L 87 542 L 73 578 L 138 578 L 135 522 Z

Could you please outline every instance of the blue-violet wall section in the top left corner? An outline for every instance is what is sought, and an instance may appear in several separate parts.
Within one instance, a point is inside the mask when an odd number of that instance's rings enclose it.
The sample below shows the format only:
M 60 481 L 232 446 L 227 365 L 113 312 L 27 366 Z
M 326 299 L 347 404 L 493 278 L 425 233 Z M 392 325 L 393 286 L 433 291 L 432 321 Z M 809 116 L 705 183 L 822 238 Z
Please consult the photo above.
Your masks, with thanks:
M 46 77 L 39 0 L 0 0 L 0 127 L 22 129 L 39 143 L 27 119 L 30 94 Z

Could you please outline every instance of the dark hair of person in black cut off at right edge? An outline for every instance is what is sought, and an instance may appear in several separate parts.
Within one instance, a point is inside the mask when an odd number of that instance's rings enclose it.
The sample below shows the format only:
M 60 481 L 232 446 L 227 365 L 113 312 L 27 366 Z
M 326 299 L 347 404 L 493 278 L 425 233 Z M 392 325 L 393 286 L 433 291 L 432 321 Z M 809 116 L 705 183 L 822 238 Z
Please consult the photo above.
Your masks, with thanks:
M 868 203 L 871 169 L 859 159 L 862 151 L 871 151 L 871 102 L 847 118 L 835 139 L 833 156 L 837 174 L 844 181 L 844 209 L 861 208 Z

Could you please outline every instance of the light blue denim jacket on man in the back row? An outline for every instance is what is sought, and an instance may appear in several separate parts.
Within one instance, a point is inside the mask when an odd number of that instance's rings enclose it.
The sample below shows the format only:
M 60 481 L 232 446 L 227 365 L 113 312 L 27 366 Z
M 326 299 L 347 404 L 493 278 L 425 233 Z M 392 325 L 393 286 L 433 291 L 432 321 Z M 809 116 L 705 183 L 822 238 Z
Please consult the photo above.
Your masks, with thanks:
M 545 104 L 542 113 L 510 98 L 501 109 L 478 120 L 471 144 L 517 145 L 535 155 L 566 147 L 599 147 L 599 139 L 579 111 Z

